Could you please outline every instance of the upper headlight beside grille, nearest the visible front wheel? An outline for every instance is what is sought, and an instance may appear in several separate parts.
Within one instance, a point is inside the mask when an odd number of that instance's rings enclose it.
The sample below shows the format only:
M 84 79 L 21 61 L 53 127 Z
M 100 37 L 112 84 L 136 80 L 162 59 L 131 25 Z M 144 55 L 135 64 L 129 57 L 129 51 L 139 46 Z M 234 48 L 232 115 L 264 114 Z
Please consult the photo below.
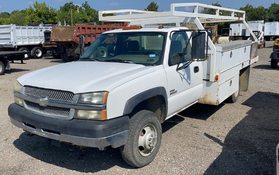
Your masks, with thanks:
M 109 92 L 91 92 L 80 94 L 78 103 L 106 104 Z

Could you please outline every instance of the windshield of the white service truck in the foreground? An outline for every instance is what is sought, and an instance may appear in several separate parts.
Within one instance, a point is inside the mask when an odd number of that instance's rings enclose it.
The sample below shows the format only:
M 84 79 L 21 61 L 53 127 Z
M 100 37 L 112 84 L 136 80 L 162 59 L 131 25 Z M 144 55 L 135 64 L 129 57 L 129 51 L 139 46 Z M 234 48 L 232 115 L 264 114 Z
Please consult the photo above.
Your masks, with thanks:
M 166 33 L 122 32 L 101 34 L 80 61 L 111 61 L 159 65 Z

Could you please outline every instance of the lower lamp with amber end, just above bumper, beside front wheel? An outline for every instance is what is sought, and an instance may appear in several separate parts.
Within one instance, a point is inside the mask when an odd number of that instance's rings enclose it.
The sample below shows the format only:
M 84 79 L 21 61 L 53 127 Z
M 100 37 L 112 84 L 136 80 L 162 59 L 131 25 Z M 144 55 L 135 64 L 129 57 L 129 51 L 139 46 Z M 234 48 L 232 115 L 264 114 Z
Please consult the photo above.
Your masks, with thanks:
M 76 110 L 75 118 L 84 119 L 84 120 L 106 120 L 107 110 L 102 110 L 102 111 Z

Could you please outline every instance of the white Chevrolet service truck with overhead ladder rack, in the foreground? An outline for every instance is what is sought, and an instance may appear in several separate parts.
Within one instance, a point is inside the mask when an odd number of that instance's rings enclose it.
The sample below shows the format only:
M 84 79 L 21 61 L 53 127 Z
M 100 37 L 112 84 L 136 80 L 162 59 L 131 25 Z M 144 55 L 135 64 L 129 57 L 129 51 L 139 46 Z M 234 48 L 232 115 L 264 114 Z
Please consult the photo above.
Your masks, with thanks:
M 200 7 L 217 13 L 200 14 Z M 168 12 L 100 11 L 99 19 L 128 26 L 102 33 L 78 61 L 19 77 L 8 108 L 15 126 L 55 145 L 120 147 L 128 164 L 143 167 L 159 151 L 161 123 L 195 103 L 235 102 L 248 90 L 250 65 L 258 60 L 256 37 L 256 43 L 214 45 L 202 25 L 247 25 L 244 11 L 183 3 L 171 4 Z

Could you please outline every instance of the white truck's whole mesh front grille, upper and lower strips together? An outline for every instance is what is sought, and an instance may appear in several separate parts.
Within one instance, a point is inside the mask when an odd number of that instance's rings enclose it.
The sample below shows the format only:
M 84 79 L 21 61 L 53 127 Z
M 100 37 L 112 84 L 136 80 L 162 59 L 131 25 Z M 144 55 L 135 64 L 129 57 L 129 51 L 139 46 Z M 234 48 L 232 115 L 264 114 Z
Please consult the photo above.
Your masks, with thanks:
M 23 93 L 32 98 L 47 97 L 48 100 L 60 101 L 60 102 L 72 102 L 75 95 L 73 92 L 44 89 L 44 88 L 38 88 L 32 86 L 24 86 Z M 60 116 L 68 116 L 70 113 L 70 109 L 68 108 L 59 108 L 59 107 L 51 107 L 51 106 L 42 107 L 40 106 L 40 104 L 35 102 L 30 102 L 27 100 L 24 100 L 24 102 L 26 104 L 27 109 L 35 110 L 42 113 L 55 114 Z

